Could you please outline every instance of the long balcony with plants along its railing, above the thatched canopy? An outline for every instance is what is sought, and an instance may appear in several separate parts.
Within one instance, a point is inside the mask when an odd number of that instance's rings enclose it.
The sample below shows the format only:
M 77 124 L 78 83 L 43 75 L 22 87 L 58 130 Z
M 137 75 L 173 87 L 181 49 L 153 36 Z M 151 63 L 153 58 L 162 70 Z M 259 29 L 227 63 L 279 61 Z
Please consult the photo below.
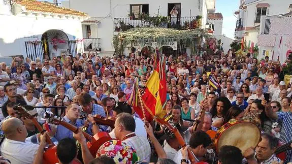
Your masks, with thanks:
M 194 29 L 201 28 L 202 18 L 200 16 L 193 17 L 178 17 L 176 23 L 171 24 L 170 17 L 164 17 L 164 21 L 156 21 L 153 17 L 151 21 L 144 19 L 130 19 L 130 18 L 115 18 L 118 22 L 115 31 L 125 31 L 134 27 L 164 27 L 164 28 L 177 28 L 177 29 Z

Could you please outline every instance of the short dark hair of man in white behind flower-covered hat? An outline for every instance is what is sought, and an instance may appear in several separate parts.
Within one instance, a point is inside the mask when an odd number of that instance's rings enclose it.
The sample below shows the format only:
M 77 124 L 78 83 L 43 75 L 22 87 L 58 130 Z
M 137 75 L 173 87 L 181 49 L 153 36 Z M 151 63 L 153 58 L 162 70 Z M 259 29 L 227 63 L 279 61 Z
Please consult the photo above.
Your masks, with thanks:
M 136 123 L 135 123 L 135 119 L 133 118 L 131 114 L 124 113 L 124 112 L 120 113 L 117 115 L 117 119 L 119 120 L 119 123 L 124 126 L 125 130 L 129 132 L 135 132 Z

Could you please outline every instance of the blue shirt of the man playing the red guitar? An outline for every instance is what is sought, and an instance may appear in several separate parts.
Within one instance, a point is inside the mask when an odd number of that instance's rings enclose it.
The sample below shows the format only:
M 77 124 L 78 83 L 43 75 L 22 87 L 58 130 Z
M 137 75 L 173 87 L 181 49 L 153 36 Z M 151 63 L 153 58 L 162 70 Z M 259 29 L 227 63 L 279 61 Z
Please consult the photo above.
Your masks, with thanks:
M 70 121 L 70 119 L 67 116 L 63 117 L 63 120 L 72 124 L 72 122 Z M 82 126 L 81 120 L 77 119 L 76 122 L 73 124 L 76 127 L 80 127 Z M 58 125 L 57 127 L 57 132 L 55 134 L 55 138 L 60 141 L 63 138 L 71 138 L 73 139 L 73 132 L 71 130 L 69 130 L 68 128 L 62 126 L 62 125 Z

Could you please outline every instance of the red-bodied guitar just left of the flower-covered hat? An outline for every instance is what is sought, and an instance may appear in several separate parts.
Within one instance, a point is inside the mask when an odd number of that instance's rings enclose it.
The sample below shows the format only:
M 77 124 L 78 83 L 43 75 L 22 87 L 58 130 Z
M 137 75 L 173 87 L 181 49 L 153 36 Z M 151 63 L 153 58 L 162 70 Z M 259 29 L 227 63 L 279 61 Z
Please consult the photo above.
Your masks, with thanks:
M 73 133 L 77 134 L 78 133 L 78 127 L 72 125 L 69 122 L 63 121 L 61 118 L 53 118 L 50 117 L 48 122 L 56 124 L 56 125 L 62 125 L 69 130 L 71 130 Z M 96 153 L 98 152 L 99 148 L 107 141 L 112 140 L 110 135 L 107 132 L 100 132 L 95 134 L 93 137 L 87 134 L 86 132 L 82 132 L 84 137 L 88 140 L 87 142 L 87 147 L 92 154 L 92 156 L 96 156 Z

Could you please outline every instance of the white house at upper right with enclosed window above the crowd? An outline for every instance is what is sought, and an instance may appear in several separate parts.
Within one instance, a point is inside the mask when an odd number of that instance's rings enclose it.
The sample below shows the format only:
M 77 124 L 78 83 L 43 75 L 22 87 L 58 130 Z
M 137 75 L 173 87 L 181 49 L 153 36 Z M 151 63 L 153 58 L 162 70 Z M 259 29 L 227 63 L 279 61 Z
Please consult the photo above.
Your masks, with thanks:
M 287 13 L 290 4 L 290 0 L 240 0 L 239 10 L 234 13 L 238 18 L 235 39 L 244 37 L 247 47 L 256 45 L 262 17 Z

